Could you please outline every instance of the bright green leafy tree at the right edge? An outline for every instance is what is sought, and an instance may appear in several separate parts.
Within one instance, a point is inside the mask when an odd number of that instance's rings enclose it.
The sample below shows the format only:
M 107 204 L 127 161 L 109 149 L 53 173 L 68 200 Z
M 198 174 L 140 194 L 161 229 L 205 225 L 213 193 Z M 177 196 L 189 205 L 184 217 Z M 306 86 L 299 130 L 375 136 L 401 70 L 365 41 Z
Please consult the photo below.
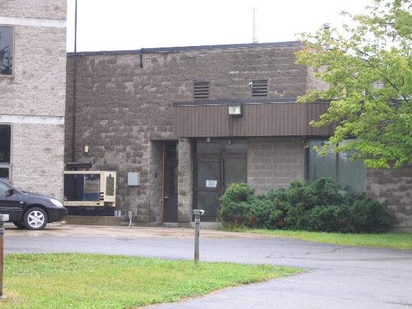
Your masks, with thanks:
M 312 126 L 338 124 L 328 147 L 355 151 L 369 168 L 412 163 L 412 3 L 375 0 L 365 14 L 349 16 L 343 32 L 323 27 L 302 34 L 306 49 L 297 63 L 313 67 L 326 90 L 314 89 L 299 102 L 331 100 Z M 347 143 L 343 140 L 350 139 Z M 336 146 L 339 145 L 339 146 Z

